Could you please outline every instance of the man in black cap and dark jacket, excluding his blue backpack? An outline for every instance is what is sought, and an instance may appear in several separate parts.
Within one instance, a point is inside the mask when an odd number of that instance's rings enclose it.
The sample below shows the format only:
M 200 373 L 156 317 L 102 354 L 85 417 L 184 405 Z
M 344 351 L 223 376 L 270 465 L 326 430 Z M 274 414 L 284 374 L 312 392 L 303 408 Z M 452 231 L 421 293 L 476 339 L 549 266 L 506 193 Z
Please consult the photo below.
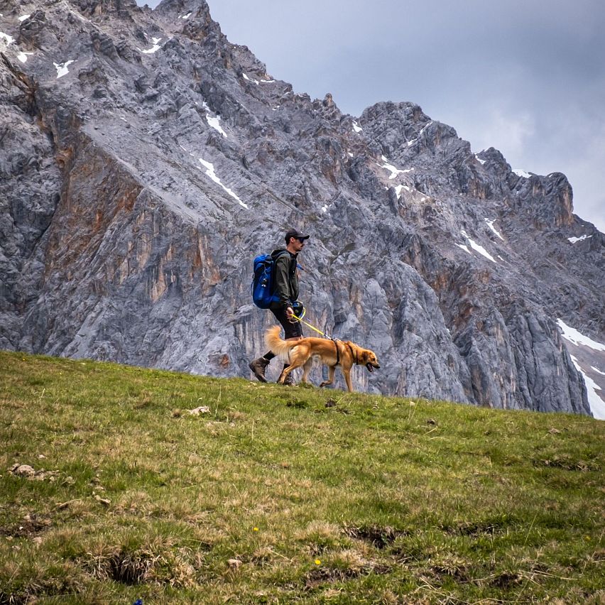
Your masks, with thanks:
M 302 327 L 300 322 L 293 319 L 293 315 L 300 317 L 302 304 L 298 302 L 298 275 L 296 273 L 296 258 L 300 251 L 305 247 L 305 241 L 310 236 L 300 234 L 296 229 L 288 229 L 285 233 L 285 248 L 278 248 L 271 252 L 275 259 L 275 268 L 273 274 L 273 293 L 276 295 L 276 302 L 271 302 L 269 309 L 276 316 L 278 322 L 283 327 L 286 340 L 299 340 L 302 338 Z M 288 254 L 284 254 L 287 251 Z M 254 376 L 261 382 L 266 382 L 265 370 L 269 362 L 276 355 L 271 351 L 251 361 L 249 368 Z M 287 368 L 289 364 L 283 364 Z M 294 379 L 292 373 L 288 374 L 284 384 L 293 386 Z

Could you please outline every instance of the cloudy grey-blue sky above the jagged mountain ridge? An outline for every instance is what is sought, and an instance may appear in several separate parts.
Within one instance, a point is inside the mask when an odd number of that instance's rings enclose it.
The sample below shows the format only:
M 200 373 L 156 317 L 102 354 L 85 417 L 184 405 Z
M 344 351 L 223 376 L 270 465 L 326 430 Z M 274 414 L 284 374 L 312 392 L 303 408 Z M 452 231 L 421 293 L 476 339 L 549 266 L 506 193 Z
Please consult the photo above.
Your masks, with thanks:
M 576 214 L 605 231 L 604 0 L 208 3 L 227 38 L 296 92 L 331 92 L 354 116 L 418 103 L 474 151 L 565 173 Z

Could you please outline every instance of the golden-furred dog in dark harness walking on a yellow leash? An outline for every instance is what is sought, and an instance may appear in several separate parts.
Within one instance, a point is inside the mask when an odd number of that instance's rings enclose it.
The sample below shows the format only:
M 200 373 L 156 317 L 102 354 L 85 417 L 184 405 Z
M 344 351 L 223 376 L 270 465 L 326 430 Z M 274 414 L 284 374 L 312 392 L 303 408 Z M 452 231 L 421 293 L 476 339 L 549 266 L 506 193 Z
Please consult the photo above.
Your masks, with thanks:
M 373 372 L 378 369 L 376 354 L 370 349 L 362 349 L 350 340 L 329 340 L 325 338 L 301 338 L 299 340 L 280 339 L 280 326 L 273 326 L 267 330 L 265 342 L 267 347 L 281 359 L 287 361 L 290 366 L 284 368 L 278 383 L 283 384 L 285 377 L 296 368 L 302 366 L 302 382 L 307 382 L 307 375 L 313 364 L 313 359 L 318 357 L 322 364 L 329 367 L 328 379 L 320 384 L 327 386 L 334 382 L 334 371 L 337 366 L 342 369 L 344 380 L 347 382 L 349 393 L 353 392 L 351 386 L 351 367 L 366 366 Z

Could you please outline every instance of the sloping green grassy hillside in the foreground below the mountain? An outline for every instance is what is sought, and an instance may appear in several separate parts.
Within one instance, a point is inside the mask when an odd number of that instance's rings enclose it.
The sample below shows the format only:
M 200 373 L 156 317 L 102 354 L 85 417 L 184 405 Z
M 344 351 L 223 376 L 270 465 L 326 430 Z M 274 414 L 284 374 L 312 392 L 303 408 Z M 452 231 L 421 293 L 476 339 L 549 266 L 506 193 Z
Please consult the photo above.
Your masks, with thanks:
M 21 353 L 0 389 L 0 604 L 605 599 L 605 423 Z

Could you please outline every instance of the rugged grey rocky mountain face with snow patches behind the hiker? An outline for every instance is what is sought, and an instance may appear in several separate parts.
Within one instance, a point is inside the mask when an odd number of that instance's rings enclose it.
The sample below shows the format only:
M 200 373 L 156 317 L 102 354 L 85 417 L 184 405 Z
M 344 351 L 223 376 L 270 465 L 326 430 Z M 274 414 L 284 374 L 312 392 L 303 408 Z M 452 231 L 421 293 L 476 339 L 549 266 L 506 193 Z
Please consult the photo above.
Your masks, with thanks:
M 0 0 L 0 32 L 1 348 L 248 377 L 292 226 L 307 320 L 381 361 L 359 390 L 591 412 L 605 352 L 557 320 L 605 342 L 605 236 L 565 175 L 296 93 L 203 0 Z

